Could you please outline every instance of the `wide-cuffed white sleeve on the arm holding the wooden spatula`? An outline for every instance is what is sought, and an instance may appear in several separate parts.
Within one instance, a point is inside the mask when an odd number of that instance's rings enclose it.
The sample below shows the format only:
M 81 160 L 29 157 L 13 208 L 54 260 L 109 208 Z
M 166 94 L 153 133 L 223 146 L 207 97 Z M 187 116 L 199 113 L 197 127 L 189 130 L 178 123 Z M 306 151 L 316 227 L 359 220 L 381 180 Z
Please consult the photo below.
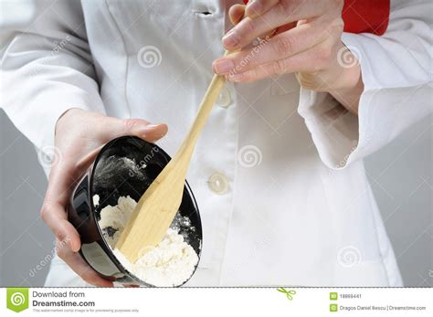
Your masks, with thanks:
M 299 112 L 324 164 L 344 168 L 433 111 L 432 9 L 431 0 L 391 1 L 385 35 L 343 34 L 362 70 L 358 116 L 328 93 L 301 89 Z

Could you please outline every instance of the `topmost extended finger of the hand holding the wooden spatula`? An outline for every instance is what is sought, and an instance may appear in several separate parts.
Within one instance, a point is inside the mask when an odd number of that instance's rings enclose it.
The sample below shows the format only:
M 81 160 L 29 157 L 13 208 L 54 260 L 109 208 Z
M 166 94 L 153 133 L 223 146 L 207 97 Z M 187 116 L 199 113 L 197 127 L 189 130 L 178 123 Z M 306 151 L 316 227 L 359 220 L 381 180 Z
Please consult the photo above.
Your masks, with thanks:
M 305 1 L 294 0 L 290 2 L 290 5 L 281 5 L 286 4 L 286 2 L 280 2 L 259 17 L 245 17 L 223 37 L 223 45 L 228 50 L 244 48 L 256 37 L 259 37 L 261 34 L 267 34 L 279 26 L 301 19 L 321 16 L 322 12 L 329 9 L 323 3 L 327 2 L 307 1 L 305 3 Z

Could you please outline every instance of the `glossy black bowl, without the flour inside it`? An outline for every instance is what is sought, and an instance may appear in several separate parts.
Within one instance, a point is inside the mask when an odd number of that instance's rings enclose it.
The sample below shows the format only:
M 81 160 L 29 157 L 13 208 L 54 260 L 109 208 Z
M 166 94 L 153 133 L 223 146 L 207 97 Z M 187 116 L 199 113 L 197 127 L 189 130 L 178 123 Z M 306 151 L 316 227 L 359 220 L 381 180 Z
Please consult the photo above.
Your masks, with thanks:
M 163 149 L 153 143 L 134 136 L 120 137 L 100 150 L 75 188 L 68 206 L 68 219 L 81 238 L 79 254 L 103 278 L 123 284 L 153 286 L 121 265 L 103 238 L 98 221 L 100 210 L 105 206 L 116 206 L 120 196 L 130 195 L 138 202 L 170 159 Z M 93 195 L 100 195 L 98 206 L 93 205 Z M 179 225 L 179 233 L 200 259 L 202 225 L 195 197 L 187 182 L 176 216 L 190 219 L 191 226 Z

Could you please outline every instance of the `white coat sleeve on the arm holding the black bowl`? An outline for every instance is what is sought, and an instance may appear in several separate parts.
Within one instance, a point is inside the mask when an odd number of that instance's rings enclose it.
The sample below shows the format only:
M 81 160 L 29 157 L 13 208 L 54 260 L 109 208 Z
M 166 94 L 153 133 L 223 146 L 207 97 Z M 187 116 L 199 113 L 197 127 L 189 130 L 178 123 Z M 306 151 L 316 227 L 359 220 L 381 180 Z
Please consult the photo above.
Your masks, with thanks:
M 28 9 L 27 1 L 5 5 L 10 15 Z M 56 122 L 65 111 L 103 112 L 104 108 L 80 2 L 38 0 L 30 9 L 33 14 L 21 26 L 1 21 L 0 106 L 44 150 L 54 143 Z

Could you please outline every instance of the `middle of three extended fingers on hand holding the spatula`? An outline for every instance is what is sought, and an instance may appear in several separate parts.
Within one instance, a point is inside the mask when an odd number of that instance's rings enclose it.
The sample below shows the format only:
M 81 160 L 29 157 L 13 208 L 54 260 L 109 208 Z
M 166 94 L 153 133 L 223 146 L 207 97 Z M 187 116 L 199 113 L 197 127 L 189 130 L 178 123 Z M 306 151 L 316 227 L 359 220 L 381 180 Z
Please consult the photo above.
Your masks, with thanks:
M 213 69 L 220 75 L 254 69 L 261 64 L 289 58 L 312 48 L 321 42 L 326 34 L 323 26 L 317 23 L 298 26 L 265 40 L 259 46 L 245 48 L 227 57 L 216 59 Z

